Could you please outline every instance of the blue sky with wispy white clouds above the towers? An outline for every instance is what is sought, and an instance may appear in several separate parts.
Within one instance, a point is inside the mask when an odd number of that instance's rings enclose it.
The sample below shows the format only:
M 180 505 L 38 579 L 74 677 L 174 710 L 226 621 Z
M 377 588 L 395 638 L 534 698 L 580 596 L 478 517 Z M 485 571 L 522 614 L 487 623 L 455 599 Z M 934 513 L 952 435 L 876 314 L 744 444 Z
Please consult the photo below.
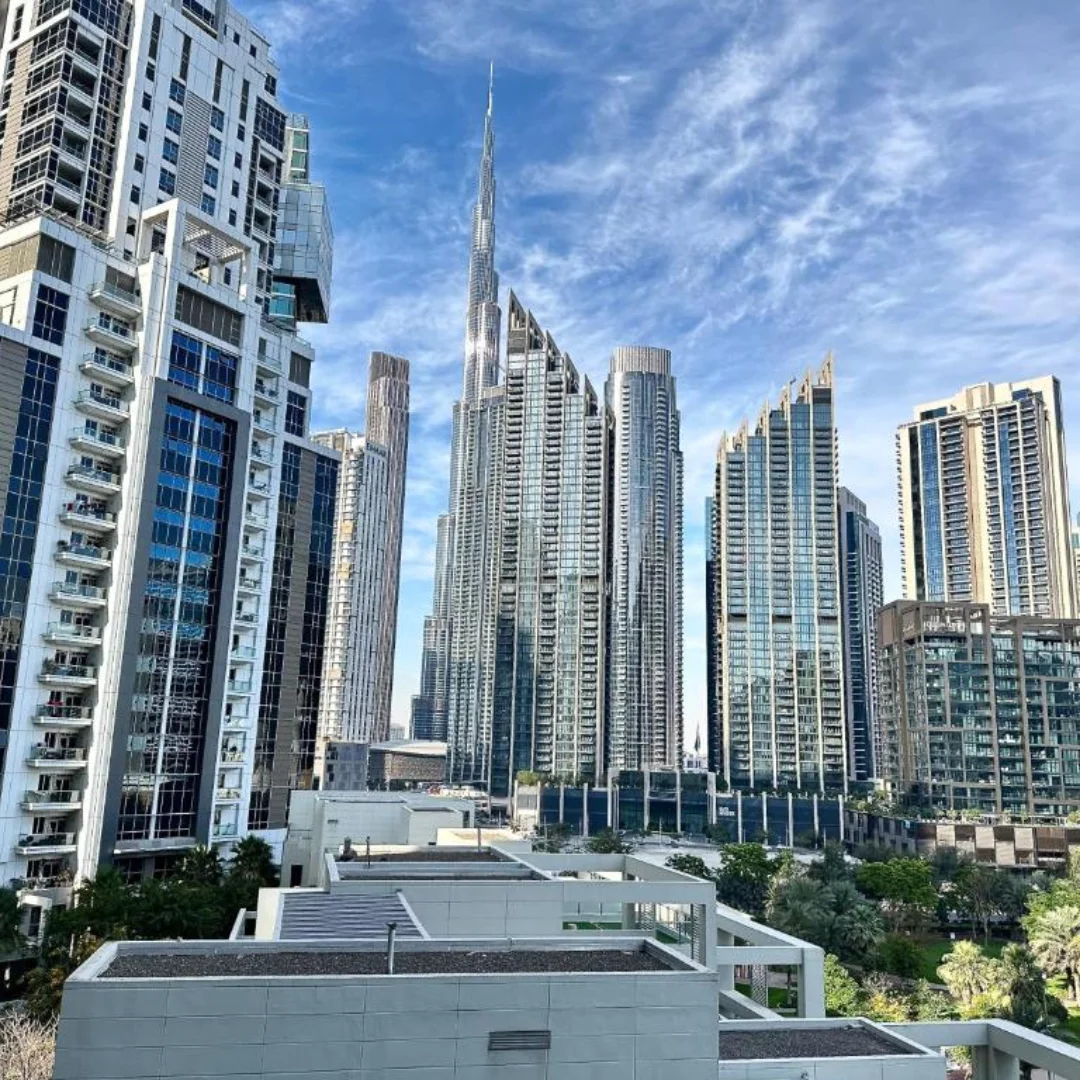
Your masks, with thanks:
M 674 354 L 688 739 L 705 712 L 703 500 L 723 431 L 834 350 L 841 480 L 882 528 L 894 597 L 894 432 L 915 404 L 1055 374 L 1067 421 L 1080 415 L 1075 2 L 240 6 L 275 42 L 330 191 L 316 422 L 362 426 L 370 350 L 413 363 L 397 721 L 446 505 L 489 59 L 503 293 L 598 386 L 617 345 Z

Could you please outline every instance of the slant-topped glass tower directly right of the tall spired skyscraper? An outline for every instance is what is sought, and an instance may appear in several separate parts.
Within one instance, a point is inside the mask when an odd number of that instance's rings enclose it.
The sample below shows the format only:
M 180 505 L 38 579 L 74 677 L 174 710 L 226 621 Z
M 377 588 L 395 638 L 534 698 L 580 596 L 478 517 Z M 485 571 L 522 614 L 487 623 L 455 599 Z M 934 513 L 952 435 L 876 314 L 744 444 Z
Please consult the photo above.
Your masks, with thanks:
M 603 769 L 611 450 L 604 403 L 513 293 L 508 341 L 491 737 L 478 747 L 498 797 L 523 769 L 586 782 Z

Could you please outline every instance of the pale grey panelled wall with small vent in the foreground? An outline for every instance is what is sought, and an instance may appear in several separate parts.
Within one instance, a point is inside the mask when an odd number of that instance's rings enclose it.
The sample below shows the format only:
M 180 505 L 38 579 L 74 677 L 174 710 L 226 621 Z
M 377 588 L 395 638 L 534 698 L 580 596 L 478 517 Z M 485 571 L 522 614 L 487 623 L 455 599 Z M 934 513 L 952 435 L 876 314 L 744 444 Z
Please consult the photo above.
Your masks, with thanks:
M 507 1030 L 551 1049 L 490 1052 Z M 715 976 L 77 977 L 54 1077 L 715 1080 Z

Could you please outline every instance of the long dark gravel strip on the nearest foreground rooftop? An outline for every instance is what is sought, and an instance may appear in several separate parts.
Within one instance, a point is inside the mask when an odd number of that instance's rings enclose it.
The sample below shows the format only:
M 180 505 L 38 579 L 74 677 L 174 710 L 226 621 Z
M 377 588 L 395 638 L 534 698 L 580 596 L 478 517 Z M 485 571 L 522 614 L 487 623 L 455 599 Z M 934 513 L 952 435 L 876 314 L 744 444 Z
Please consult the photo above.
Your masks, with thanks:
M 396 975 L 481 975 L 530 972 L 670 971 L 644 949 L 404 953 Z M 215 975 L 384 975 L 383 953 L 130 953 L 118 956 L 103 978 L 205 978 Z

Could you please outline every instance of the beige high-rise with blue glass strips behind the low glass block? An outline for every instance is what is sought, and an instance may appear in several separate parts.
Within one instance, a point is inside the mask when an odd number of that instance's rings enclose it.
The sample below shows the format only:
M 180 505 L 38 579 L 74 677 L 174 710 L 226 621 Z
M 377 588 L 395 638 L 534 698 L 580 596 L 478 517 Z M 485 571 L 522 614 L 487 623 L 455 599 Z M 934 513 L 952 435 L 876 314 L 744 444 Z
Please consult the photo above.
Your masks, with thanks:
M 1076 616 L 1057 379 L 983 382 L 919 405 L 896 460 L 907 598 Z

